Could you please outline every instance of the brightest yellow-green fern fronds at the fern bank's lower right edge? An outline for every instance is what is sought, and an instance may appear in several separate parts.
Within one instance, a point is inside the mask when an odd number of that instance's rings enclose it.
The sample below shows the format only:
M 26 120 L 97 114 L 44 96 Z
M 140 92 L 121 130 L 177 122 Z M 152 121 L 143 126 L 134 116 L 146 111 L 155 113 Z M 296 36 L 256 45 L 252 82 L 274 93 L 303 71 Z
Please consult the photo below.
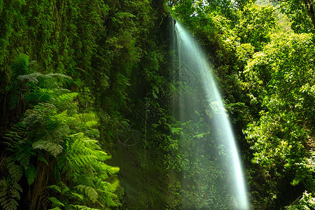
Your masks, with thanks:
M 111 167 L 104 163 L 110 158 L 102 151 L 98 141 L 85 137 L 83 133 L 72 134 L 66 140 L 66 154 L 69 162 L 70 174 L 73 174 L 72 181 L 78 183 L 76 189 L 92 202 L 102 201 L 102 204 L 116 206 L 116 195 L 113 192 L 118 187 L 118 181 L 113 185 L 104 180 L 109 175 L 116 174 L 118 167 Z

